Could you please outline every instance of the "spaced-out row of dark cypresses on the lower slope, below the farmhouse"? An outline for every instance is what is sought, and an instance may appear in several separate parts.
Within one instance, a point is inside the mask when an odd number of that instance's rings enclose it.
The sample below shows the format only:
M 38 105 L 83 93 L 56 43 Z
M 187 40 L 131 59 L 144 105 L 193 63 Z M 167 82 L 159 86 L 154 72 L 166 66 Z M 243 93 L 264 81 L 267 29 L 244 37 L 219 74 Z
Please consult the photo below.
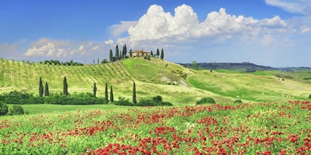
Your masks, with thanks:
M 96 86 L 96 82 L 94 82 L 94 86 L 93 86 L 94 97 L 96 97 L 96 91 L 97 91 L 97 86 Z M 39 95 L 40 95 L 40 97 L 43 96 L 43 93 L 44 93 L 44 96 L 49 96 L 49 84 L 47 82 L 45 82 L 45 87 L 43 87 L 42 78 L 40 77 L 40 80 L 39 80 Z M 69 95 L 66 76 L 64 77 L 64 80 L 63 80 L 62 94 L 63 95 Z M 108 84 L 107 84 L 107 82 L 106 82 L 106 86 L 105 86 L 105 100 L 108 100 Z M 112 85 L 111 85 L 110 86 L 110 102 L 113 102 L 113 101 L 114 101 L 114 96 L 113 96 L 113 90 L 112 90 Z M 133 83 L 133 104 L 136 104 L 136 103 L 137 103 L 136 86 L 135 86 L 135 82 L 134 82 Z

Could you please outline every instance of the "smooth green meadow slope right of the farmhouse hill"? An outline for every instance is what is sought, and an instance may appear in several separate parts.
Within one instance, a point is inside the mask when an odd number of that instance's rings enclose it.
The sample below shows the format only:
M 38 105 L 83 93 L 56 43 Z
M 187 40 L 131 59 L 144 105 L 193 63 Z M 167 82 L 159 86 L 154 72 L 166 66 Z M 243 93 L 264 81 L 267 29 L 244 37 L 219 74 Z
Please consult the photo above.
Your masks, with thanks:
M 306 100 L 311 84 L 271 75 L 205 71 L 188 77 L 192 86 L 219 95 L 253 101 Z

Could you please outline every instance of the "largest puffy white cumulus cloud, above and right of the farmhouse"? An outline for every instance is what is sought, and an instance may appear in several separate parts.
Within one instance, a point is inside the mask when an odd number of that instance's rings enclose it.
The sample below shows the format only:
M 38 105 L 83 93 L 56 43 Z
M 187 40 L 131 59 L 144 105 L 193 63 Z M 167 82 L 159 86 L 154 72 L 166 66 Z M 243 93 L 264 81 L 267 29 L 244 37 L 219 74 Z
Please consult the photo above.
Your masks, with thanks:
M 271 19 L 253 19 L 242 15 L 228 15 L 226 9 L 208 13 L 200 22 L 196 12 L 185 4 L 175 8 L 175 14 L 165 12 L 161 6 L 150 6 L 135 26 L 128 28 L 128 37 L 117 39 L 118 44 L 142 45 L 146 40 L 180 42 L 214 37 L 217 40 L 235 36 L 249 39 L 283 33 L 288 24 L 276 16 Z

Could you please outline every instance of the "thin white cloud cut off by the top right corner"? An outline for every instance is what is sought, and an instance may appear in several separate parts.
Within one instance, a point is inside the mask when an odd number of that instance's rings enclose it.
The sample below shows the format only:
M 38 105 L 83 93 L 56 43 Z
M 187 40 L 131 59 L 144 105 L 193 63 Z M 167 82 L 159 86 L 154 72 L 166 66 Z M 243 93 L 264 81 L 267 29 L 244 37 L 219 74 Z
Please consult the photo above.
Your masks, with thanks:
M 288 12 L 299 14 L 311 13 L 311 0 L 266 0 L 270 6 L 276 6 Z

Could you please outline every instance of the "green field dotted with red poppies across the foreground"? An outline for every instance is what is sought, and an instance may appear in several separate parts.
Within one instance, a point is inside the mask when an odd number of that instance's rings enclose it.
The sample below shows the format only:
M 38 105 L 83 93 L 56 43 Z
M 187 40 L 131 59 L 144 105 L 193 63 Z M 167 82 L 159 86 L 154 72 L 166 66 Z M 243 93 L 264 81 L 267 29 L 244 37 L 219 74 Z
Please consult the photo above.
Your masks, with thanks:
M 308 101 L 0 118 L 1 154 L 311 154 Z

